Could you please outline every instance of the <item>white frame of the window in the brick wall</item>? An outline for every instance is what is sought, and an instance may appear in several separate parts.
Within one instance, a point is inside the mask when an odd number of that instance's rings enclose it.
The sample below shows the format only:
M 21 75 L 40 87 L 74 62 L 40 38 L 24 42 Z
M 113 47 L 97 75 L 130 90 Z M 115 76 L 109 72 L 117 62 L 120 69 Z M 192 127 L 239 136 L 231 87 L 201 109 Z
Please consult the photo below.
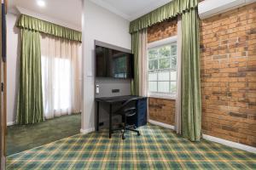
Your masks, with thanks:
M 148 68 L 149 60 L 153 60 L 153 59 L 149 59 L 149 56 L 148 56 L 148 51 L 150 49 L 164 47 L 164 46 L 166 46 L 168 44 L 172 44 L 174 42 L 177 43 L 177 36 L 168 37 L 168 38 L 156 41 L 156 42 L 148 43 L 148 49 L 147 49 L 147 61 L 148 61 L 148 63 L 147 63 L 147 68 Z M 178 54 L 177 54 L 177 57 L 178 57 Z M 159 63 L 158 63 L 158 65 L 159 65 Z M 178 65 L 176 65 L 176 71 L 178 71 L 177 67 L 178 67 Z M 148 85 L 149 85 L 149 82 L 170 82 L 170 83 L 171 82 L 176 82 L 176 84 L 177 84 L 177 78 L 176 78 L 176 81 L 171 81 L 171 80 L 170 81 L 158 81 L 158 80 L 157 81 L 149 81 L 148 73 L 149 73 L 149 70 L 147 71 L 147 84 Z M 178 72 L 177 72 L 177 74 L 178 74 Z M 171 77 L 171 74 L 169 76 Z M 149 92 L 149 89 L 148 89 L 148 97 L 160 98 L 160 99 L 177 99 L 177 93 L 173 94 L 173 93 L 162 93 L 162 92 Z

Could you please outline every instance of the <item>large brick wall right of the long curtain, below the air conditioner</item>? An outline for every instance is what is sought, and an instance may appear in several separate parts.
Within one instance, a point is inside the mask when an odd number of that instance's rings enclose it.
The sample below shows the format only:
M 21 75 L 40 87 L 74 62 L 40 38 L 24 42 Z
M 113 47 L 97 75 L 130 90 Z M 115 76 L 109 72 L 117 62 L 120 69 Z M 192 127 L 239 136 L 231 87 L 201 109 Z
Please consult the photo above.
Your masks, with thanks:
M 256 146 L 256 3 L 201 22 L 203 133 Z

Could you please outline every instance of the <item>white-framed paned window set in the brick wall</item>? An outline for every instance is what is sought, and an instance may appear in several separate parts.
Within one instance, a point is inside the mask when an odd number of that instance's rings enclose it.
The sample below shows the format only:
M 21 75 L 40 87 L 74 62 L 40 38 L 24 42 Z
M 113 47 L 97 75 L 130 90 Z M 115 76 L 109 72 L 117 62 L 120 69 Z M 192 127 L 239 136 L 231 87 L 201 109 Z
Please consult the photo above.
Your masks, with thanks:
M 177 38 L 148 44 L 148 95 L 176 98 Z

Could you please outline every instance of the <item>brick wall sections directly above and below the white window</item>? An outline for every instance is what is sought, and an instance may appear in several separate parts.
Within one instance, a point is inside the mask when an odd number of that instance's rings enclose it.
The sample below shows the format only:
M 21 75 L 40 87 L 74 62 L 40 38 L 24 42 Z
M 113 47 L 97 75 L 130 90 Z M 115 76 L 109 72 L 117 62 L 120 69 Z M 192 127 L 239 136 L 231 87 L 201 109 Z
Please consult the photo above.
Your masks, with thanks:
M 148 42 L 155 42 L 177 35 L 177 20 L 166 20 L 148 28 Z M 149 118 L 157 122 L 174 125 L 175 100 L 149 98 Z

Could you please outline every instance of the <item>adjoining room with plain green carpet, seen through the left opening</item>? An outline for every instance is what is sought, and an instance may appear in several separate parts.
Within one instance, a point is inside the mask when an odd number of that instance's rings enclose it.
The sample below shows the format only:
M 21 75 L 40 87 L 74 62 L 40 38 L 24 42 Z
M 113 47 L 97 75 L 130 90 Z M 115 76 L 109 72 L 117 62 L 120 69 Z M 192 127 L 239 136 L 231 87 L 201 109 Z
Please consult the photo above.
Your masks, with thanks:
M 7 156 L 80 133 L 82 3 L 77 1 L 73 4 L 73 1 L 67 1 L 59 11 L 55 12 L 59 4 L 60 2 L 53 2 L 47 7 L 44 1 L 9 2 L 6 15 L 6 55 L 9 56 L 6 59 L 8 63 L 6 71 Z M 73 11 L 77 9 L 77 13 L 73 13 L 76 20 L 64 15 L 64 11 L 71 8 L 71 4 L 73 4 Z M 35 18 L 38 20 L 34 21 Z M 32 60 L 28 59 L 28 63 L 22 60 L 26 58 L 19 57 L 26 53 L 29 56 L 29 52 L 22 54 L 22 51 L 31 49 L 23 46 L 26 44 L 25 40 L 21 41 L 23 37 L 21 30 L 31 29 L 24 24 L 26 20 L 37 23 L 38 29 L 44 26 L 42 23 L 45 20 L 47 21 L 45 26 L 52 29 L 46 28 L 36 37 L 32 37 L 33 41 L 38 41 L 39 49 L 35 53 L 40 53 L 38 59 L 41 59 L 35 61 L 30 58 Z M 66 36 L 61 33 L 62 31 L 72 33 Z M 27 43 L 27 46 L 34 45 L 37 43 Z M 38 64 L 31 65 L 30 62 Z M 27 66 L 22 66 L 21 63 Z M 33 67 L 39 69 L 33 70 L 31 69 Z M 23 72 L 25 74 L 22 75 Z M 33 72 L 37 75 L 32 74 Z M 39 77 L 38 82 L 31 82 L 37 77 Z M 30 93 L 32 96 L 29 95 Z M 39 102 L 34 102 L 37 99 Z

